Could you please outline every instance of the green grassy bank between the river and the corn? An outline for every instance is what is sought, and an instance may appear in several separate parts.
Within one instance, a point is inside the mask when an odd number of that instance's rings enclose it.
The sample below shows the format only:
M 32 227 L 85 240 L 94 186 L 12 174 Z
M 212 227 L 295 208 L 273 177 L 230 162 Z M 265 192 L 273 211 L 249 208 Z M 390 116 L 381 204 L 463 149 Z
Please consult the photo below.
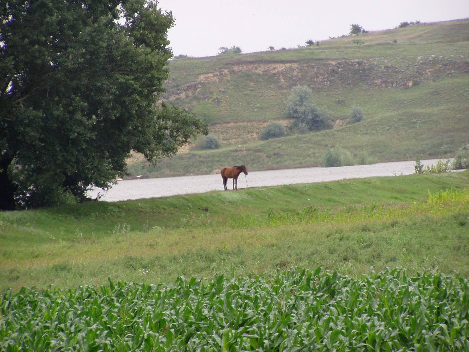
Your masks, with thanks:
M 0 291 L 322 265 L 469 275 L 468 171 L 0 213 Z M 453 191 L 445 191 L 452 189 Z M 429 196 L 428 194 L 431 194 Z

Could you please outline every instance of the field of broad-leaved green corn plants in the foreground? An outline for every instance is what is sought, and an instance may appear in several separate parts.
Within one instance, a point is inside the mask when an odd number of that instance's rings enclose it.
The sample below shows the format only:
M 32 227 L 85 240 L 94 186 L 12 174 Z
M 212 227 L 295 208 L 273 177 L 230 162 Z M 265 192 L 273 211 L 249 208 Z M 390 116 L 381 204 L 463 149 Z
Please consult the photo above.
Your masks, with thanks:
M 291 268 L 172 286 L 23 288 L 0 300 L 0 350 L 469 351 L 467 280 Z

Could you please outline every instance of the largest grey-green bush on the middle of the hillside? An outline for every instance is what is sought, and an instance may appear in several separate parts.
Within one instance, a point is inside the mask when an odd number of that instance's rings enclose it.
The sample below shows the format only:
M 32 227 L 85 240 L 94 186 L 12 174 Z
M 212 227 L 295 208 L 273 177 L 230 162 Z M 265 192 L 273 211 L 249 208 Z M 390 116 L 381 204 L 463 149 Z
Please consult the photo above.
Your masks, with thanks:
M 304 123 L 309 130 L 325 130 L 332 128 L 327 112 L 313 103 L 311 88 L 297 85 L 291 89 L 287 100 L 287 117 L 294 118 L 294 126 Z

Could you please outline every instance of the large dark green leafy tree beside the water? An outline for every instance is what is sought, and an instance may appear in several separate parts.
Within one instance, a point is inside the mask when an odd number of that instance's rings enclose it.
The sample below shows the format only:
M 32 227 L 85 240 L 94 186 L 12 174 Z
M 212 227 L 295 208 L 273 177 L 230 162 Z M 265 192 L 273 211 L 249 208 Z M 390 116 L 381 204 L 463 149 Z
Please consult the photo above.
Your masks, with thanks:
M 206 124 L 158 101 L 172 14 L 151 0 L 0 1 L 0 209 L 83 201 Z

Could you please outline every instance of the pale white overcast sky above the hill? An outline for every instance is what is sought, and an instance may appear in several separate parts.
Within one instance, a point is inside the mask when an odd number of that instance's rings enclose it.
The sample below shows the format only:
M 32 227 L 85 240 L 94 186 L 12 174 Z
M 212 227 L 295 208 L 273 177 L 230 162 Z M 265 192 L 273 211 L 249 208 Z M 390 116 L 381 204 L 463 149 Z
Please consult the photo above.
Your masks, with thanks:
M 394 28 L 403 21 L 438 22 L 469 17 L 469 0 L 160 0 L 173 11 L 168 31 L 174 55 L 213 56 L 220 46 L 243 53 L 304 45 L 365 30 Z

